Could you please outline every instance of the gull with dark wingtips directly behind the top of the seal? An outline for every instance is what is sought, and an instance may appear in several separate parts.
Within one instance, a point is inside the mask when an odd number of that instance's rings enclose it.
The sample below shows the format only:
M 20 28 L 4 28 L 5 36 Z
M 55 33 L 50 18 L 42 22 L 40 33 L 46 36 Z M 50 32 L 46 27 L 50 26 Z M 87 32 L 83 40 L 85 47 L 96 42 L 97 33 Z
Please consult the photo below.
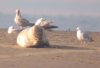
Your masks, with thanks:
M 46 20 L 44 18 L 39 18 L 35 25 L 39 25 L 43 27 L 44 29 L 51 29 L 51 28 L 58 28 L 58 26 L 51 25 L 53 23 L 52 21 Z

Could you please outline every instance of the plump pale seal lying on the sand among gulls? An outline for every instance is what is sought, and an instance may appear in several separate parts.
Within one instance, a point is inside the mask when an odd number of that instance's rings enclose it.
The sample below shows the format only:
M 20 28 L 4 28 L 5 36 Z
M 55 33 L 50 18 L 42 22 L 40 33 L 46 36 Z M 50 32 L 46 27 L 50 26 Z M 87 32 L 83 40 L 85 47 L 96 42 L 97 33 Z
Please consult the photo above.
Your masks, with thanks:
M 44 29 L 37 25 L 22 30 L 17 36 L 17 44 L 25 48 L 49 46 Z

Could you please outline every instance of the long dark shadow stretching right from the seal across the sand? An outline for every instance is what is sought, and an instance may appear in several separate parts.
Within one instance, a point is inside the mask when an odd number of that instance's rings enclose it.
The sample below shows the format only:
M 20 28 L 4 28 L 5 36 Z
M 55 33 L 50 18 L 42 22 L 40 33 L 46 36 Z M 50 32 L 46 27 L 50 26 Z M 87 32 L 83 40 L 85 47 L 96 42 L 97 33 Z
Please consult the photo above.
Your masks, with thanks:
M 67 49 L 67 50 L 95 50 L 91 47 L 76 47 L 76 46 L 65 46 L 65 45 L 38 45 L 29 48 L 50 48 L 50 49 Z

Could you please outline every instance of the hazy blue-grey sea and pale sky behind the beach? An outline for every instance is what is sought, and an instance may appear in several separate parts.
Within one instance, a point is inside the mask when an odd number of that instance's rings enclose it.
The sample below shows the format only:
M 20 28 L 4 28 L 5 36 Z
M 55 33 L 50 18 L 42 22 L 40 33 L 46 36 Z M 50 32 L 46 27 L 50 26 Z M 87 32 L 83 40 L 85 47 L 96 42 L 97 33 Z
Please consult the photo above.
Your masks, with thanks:
M 32 23 L 41 17 L 52 20 L 57 30 L 74 31 L 79 26 L 100 31 L 100 0 L 0 0 L 0 28 L 16 26 L 16 8 Z

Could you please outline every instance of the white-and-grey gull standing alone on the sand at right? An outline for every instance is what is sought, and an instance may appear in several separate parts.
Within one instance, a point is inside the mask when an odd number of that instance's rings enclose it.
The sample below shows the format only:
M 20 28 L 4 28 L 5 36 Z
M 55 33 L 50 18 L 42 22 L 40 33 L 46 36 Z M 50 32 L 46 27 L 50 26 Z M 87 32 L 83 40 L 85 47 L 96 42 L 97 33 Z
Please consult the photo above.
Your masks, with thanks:
M 92 39 L 92 37 L 90 36 L 90 34 L 87 33 L 87 32 L 83 32 L 83 31 L 80 29 L 80 27 L 77 27 L 76 30 L 77 30 L 77 39 L 78 39 L 79 41 L 81 41 L 81 43 L 83 43 L 83 42 L 86 43 L 86 42 L 91 42 L 91 41 L 93 41 L 93 39 Z

